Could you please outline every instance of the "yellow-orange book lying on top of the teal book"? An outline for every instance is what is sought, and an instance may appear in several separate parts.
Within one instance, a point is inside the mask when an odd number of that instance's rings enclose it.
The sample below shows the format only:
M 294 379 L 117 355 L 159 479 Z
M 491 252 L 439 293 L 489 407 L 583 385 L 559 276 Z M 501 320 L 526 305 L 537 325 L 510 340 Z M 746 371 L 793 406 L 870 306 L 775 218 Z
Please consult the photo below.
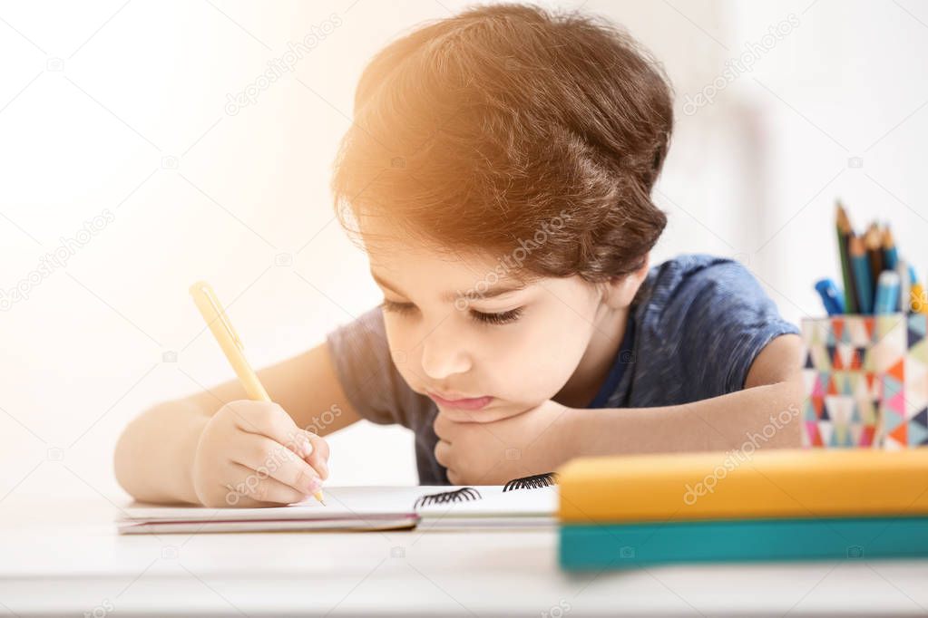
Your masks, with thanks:
M 558 474 L 563 523 L 928 514 L 928 448 L 581 458 Z

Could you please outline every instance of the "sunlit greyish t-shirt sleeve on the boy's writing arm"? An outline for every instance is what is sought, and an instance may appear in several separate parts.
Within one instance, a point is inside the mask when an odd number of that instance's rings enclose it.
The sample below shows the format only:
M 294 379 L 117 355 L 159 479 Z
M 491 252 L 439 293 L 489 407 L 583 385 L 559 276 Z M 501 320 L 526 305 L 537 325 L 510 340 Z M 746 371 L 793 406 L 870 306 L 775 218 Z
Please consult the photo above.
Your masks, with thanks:
M 396 369 L 380 307 L 326 335 L 335 372 L 348 400 L 373 423 L 410 425 L 423 396 L 412 390 Z

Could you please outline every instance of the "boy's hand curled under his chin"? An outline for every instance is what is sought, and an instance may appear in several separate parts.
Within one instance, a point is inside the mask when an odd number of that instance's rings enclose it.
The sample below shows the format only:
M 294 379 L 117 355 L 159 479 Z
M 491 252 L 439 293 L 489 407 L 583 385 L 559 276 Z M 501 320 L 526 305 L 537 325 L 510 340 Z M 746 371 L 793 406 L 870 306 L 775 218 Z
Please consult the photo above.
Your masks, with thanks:
M 434 429 L 435 459 L 454 485 L 503 485 L 514 478 L 553 472 L 573 457 L 570 422 L 576 410 L 555 401 L 498 421 L 456 420 L 439 411 Z

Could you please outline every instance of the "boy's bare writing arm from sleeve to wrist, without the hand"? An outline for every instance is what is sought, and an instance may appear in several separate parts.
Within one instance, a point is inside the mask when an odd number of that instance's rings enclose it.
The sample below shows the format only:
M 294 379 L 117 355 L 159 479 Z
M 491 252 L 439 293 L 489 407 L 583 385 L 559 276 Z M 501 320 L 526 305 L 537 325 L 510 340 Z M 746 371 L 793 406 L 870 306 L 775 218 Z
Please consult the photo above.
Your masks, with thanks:
M 327 343 L 267 367 L 258 377 L 303 429 L 327 435 L 359 419 L 343 392 Z M 231 380 L 140 414 L 116 445 L 120 485 L 140 500 L 198 503 L 191 471 L 203 428 L 226 403 L 247 398 L 238 380 Z

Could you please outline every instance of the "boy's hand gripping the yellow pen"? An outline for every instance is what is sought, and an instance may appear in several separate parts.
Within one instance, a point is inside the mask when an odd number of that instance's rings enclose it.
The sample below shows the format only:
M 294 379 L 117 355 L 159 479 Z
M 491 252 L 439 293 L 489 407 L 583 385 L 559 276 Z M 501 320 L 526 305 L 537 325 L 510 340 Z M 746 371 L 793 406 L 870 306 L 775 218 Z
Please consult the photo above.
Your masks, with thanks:
M 208 507 L 279 506 L 310 498 L 329 477 L 329 445 L 283 408 L 232 401 L 200 434 L 193 486 Z

